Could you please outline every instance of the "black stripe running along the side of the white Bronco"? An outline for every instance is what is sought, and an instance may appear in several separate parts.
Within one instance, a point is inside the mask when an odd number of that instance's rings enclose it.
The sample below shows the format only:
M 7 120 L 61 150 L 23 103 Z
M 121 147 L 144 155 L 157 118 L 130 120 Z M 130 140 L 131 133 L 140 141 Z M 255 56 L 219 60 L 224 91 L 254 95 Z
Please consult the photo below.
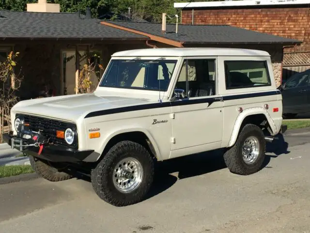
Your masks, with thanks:
M 255 97 L 263 97 L 263 96 L 273 96 L 273 95 L 280 95 L 281 92 L 279 90 L 276 91 L 268 91 L 268 92 L 259 92 L 259 93 L 249 93 L 249 94 L 238 94 L 233 96 L 223 96 L 222 100 L 240 100 L 245 98 L 255 98 Z M 121 108 L 112 108 L 112 109 L 105 109 L 100 111 L 95 111 L 87 114 L 84 118 L 90 118 L 95 116 L 104 116 L 116 113 L 124 113 L 124 112 L 132 112 L 132 111 L 139 111 L 139 110 L 146 110 L 146 109 L 154 109 L 154 108 L 166 108 L 171 106 L 182 106 L 182 105 L 190 105 L 190 104 L 198 104 L 198 103 L 209 103 L 210 106 L 214 102 L 221 101 L 218 97 L 209 97 L 203 99 L 196 99 L 196 100 L 176 100 L 171 102 L 162 102 L 162 103 L 148 103 L 148 104 L 141 104 L 135 106 L 128 106 L 128 107 L 121 107 Z

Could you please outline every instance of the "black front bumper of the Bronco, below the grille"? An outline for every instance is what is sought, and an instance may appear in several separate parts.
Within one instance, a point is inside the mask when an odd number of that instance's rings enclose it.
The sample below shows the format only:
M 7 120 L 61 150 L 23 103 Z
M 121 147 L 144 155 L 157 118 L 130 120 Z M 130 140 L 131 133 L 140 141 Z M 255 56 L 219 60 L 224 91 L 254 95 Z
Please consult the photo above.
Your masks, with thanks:
M 39 147 L 28 146 L 25 142 L 21 141 L 23 140 L 22 138 L 16 138 L 14 136 L 11 137 L 8 133 L 4 133 L 3 140 L 9 144 L 12 149 L 17 149 L 33 157 L 44 159 L 50 162 L 94 162 L 97 158 L 96 152 L 94 152 L 94 150 L 73 150 L 58 145 L 45 146 L 39 155 Z M 22 142 L 22 145 L 20 142 Z

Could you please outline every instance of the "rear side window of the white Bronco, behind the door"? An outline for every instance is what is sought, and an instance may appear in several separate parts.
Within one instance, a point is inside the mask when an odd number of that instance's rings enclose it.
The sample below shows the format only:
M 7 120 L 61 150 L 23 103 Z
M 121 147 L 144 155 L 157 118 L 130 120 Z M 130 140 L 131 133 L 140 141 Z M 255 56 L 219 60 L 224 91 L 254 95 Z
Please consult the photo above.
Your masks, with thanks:
M 270 86 L 265 61 L 225 61 L 226 89 Z

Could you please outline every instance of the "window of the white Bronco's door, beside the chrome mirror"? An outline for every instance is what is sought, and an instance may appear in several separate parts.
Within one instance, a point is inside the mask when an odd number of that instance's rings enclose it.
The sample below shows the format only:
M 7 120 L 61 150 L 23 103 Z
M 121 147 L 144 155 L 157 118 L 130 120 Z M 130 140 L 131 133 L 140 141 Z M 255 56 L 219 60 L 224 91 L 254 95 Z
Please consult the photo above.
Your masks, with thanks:
M 185 90 L 189 98 L 216 95 L 215 67 L 215 59 L 185 60 L 175 88 Z

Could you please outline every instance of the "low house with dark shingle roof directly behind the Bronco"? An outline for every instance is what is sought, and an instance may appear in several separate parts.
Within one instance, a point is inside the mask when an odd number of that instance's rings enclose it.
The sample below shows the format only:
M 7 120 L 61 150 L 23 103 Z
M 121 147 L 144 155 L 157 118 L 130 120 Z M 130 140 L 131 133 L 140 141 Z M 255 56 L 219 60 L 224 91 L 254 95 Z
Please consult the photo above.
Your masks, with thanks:
M 36 5 L 37 4 L 37 5 Z M 154 47 L 230 47 L 266 50 L 272 55 L 277 83 L 283 46 L 301 42 L 229 25 L 177 25 L 100 20 L 79 13 L 60 13 L 58 4 L 28 4 L 27 12 L 0 10 L 0 56 L 20 52 L 18 67 L 24 76 L 21 99 L 36 96 L 44 85 L 56 95 L 74 94 L 86 52 L 100 54 L 93 61 L 105 68 L 112 53 Z M 29 7 L 30 6 L 30 7 Z M 0 58 L 1 59 L 1 58 Z M 98 69 L 98 77 L 103 70 Z M 98 77 L 92 77 L 97 84 Z

